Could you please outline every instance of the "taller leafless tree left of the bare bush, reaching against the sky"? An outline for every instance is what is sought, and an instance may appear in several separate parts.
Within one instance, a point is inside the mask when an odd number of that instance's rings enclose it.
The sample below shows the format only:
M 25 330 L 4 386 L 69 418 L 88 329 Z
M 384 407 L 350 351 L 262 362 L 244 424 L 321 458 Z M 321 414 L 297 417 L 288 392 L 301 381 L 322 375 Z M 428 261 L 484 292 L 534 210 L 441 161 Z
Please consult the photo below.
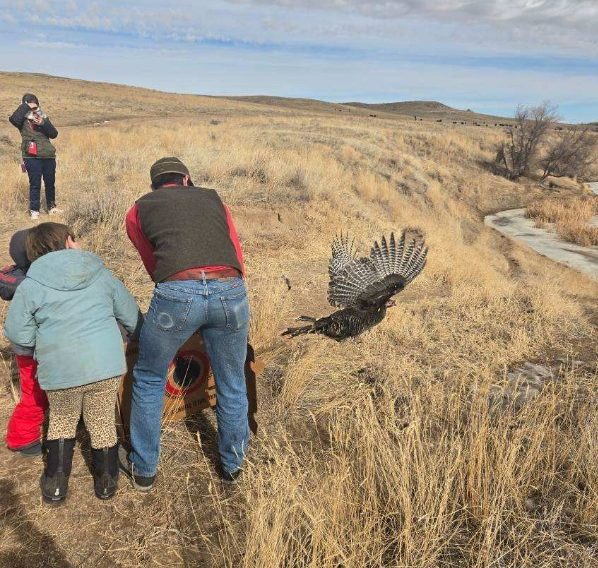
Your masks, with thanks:
M 542 142 L 557 119 L 556 107 L 549 103 L 517 107 L 515 123 L 507 127 L 509 139 L 496 153 L 496 163 L 507 177 L 517 179 L 529 174 Z

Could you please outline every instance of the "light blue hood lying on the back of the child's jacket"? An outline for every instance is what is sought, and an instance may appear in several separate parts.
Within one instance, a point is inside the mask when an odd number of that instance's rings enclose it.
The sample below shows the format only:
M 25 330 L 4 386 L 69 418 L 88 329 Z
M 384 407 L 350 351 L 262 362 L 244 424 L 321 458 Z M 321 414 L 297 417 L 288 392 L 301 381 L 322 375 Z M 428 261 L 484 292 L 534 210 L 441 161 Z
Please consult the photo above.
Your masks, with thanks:
M 104 263 L 95 254 L 66 249 L 38 258 L 27 277 L 55 290 L 81 290 L 90 286 L 103 270 Z

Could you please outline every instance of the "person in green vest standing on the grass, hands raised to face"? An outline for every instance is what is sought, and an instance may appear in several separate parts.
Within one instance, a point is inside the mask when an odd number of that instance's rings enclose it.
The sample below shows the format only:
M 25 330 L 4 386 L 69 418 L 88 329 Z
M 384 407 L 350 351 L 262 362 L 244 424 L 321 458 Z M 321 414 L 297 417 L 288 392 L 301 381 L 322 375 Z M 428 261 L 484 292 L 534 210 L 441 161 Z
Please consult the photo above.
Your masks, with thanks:
M 58 136 L 58 130 L 39 106 L 32 93 L 25 93 L 21 104 L 8 119 L 21 133 L 23 163 L 29 175 L 29 213 L 39 218 L 42 178 L 46 189 L 48 213 L 60 213 L 56 207 L 56 148 L 50 140 Z

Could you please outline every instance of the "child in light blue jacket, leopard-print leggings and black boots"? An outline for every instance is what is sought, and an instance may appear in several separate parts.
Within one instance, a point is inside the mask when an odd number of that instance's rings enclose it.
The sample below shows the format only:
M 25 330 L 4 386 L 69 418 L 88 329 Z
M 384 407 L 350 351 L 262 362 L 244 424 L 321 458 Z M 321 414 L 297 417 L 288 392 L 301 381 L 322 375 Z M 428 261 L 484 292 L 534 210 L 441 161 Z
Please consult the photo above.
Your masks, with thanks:
M 80 250 L 59 223 L 29 230 L 32 264 L 8 310 L 5 333 L 34 347 L 39 384 L 48 396 L 44 500 L 66 498 L 79 418 L 91 438 L 94 489 L 114 495 L 118 482 L 116 394 L 126 370 L 120 322 L 129 334 L 141 323 L 137 304 L 95 254 Z

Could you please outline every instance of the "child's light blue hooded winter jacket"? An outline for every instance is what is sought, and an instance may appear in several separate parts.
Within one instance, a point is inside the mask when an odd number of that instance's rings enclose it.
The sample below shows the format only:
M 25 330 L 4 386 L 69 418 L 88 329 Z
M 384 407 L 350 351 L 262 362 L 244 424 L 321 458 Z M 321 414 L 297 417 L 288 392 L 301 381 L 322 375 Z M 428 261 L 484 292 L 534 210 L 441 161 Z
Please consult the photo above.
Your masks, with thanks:
M 95 254 L 67 249 L 29 268 L 10 304 L 4 332 L 35 347 L 44 390 L 94 383 L 124 374 L 122 335 L 141 320 L 133 296 Z

